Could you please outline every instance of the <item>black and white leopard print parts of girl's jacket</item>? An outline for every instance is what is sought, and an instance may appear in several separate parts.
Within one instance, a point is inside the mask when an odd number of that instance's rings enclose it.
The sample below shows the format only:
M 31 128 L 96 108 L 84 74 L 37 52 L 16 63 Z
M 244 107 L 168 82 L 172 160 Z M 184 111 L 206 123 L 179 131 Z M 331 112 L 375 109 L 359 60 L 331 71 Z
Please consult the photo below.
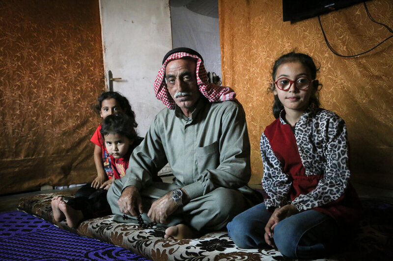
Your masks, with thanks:
M 287 124 L 281 115 L 281 124 Z M 323 178 L 314 190 L 301 194 L 290 202 L 288 191 L 292 183 L 283 173 L 283 165 L 263 133 L 260 140 L 264 168 L 262 187 L 270 197 L 265 200 L 266 208 L 292 203 L 299 211 L 309 210 L 337 200 L 347 187 L 350 172 L 347 132 L 343 119 L 334 112 L 311 105 L 295 125 L 295 138 L 306 175 L 323 174 Z

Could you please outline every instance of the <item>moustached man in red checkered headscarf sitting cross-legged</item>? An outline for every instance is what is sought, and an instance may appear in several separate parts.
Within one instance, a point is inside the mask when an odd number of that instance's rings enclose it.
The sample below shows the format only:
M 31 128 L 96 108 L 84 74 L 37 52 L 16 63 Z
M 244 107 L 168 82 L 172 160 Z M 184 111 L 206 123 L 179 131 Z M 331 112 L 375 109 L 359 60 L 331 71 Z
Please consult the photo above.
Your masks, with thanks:
M 190 48 L 165 55 L 154 91 L 168 109 L 157 114 L 126 175 L 109 190 L 115 219 L 161 223 L 165 238 L 176 239 L 225 228 L 252 205 L 245 197 L 252 190 L 242 106 L 230 88 L 207 83 L 202 57 Z M 167 163 L 173 183 L 153 181 Z

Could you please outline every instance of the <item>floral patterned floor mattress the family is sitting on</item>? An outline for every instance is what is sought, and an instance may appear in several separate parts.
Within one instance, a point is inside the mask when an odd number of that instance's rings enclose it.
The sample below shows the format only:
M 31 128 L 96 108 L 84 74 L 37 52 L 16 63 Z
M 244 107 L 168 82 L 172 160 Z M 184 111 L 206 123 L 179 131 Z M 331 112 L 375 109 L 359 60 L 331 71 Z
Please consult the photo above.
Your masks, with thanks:
M 72 195 L 73 191 L 62 195 Z M 226 231 L 209 233 L 197 239 L 165 239 L 160 228 L 142 229 L 138 225 L 112 220 L 112 215 L 89 219 L 77 229 L 52 218 L 51 199 L 55 193 L 20 199 L 18 209 L 39 216 L 60 228 L 81 236 L 93 237 L 129 249 L 154 261 L 277 261 L 290 260 L 277 249 L 247 250 L 235 246 Z M 56 193 L 56 195 L 59 195 Z M 365 215 L 356 237 L 327 259 L 321 260 L 393 260 L 393 204 L 363 201 Z

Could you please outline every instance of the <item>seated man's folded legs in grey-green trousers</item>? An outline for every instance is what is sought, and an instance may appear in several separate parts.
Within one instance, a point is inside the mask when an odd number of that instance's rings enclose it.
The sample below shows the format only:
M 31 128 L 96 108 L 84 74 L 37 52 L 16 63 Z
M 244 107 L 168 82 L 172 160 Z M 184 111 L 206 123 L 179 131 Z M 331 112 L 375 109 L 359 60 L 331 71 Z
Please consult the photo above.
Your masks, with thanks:
M 162 182 L 153 182 L 151 186 L 140 191 L 142 198 L 143 214 L 142 218 L 150 222 L 147 212 L 151 204 L 164 196 L 168 191 L 179 188 L 178 185 Z M 127 216 L 128 219 L 122 218 L 117 200 L 121 196 L 123 184 L 121 179 L 115 180 L 108 191 L 108 202 L 111 206 L 112 213 L 117 221 L 136 223 L 136 217 Z M 226 224 L 234 216 L 251 207 L 251 203 L 238 190 L 218 188 L 207 193 L 206 195 L 192 199 L 185 206 L 179 207 L 177 211 L 169 217 L 167 225 L 158 224 L 162 227 L 170 227 L 178 224 L 185 224 L 191 228 L 200 231 L 218 231 L 225 228 Z

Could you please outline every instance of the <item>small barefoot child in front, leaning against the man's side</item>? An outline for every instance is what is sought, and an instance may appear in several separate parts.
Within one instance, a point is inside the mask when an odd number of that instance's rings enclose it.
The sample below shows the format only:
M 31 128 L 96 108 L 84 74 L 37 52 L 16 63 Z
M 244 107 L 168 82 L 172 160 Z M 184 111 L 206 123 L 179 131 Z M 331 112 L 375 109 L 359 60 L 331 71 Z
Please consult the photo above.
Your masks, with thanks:
M 104 137 L 111 162 L 112 178 L 104 182 L 99 190 L 90 185 L 84 186 L 68 202 L 61 196 L 53 197 L 52 210 L 56 221 L 66 219 L 69 227 L 77 227 L 84 219 L 111 214 L 107 190 L 114 179 L 125 175 L 132 151 L 143 140 L 137 136 L 134 126 L 135 120 L 123 113 L 105 117 L 100 135 Z

